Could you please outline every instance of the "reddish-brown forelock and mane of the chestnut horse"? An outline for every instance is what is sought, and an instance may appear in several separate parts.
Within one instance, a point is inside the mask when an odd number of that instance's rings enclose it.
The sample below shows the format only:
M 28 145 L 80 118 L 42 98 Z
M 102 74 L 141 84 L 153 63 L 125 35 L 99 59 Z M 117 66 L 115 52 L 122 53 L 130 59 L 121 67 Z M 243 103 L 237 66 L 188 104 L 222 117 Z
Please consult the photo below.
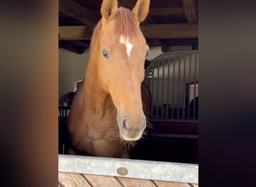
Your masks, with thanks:
M 115 19 L 115 31 L 117 34 L 123 34 L 124 36 L 130 37 L 136 34 L 136 32 L 139 30 L 138 22 L 136 22 L 132 12 L 127 8 L 119 7 L 113 19 Z M 96 43 L 98 34 L 100 34 L 101 26 L 102 19 L 100 19 L 94 28 L 94 32 L 91 37 L 91 48 Z

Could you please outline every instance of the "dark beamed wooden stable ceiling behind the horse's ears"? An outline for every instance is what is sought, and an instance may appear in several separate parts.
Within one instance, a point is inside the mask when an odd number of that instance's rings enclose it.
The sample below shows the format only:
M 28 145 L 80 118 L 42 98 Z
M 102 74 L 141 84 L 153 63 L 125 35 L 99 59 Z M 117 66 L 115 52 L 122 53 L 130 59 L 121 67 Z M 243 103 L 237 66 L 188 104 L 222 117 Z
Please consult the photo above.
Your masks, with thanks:
M 102 0 L 59 0 L 58 48 L 82 54 L 90 47 L 94 26 L 100 20 Z M 132 10 L 136 0 L 119 0 Z M 198 49 L 198 0 L 150 0 L 141 31 L 149 46 L 192 46 Z

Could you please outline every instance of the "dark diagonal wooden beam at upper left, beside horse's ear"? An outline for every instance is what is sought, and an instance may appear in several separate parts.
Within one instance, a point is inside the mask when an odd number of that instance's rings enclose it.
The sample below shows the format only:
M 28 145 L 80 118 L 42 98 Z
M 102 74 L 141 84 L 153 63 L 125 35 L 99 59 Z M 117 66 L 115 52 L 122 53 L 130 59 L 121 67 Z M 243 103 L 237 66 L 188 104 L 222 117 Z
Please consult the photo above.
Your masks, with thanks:
M 73 0 L 59 0 L 58 10 L 67 14 L 67 16 L 78 19 L 85 25 L 96 25 L 98 19 L 93 13 Z

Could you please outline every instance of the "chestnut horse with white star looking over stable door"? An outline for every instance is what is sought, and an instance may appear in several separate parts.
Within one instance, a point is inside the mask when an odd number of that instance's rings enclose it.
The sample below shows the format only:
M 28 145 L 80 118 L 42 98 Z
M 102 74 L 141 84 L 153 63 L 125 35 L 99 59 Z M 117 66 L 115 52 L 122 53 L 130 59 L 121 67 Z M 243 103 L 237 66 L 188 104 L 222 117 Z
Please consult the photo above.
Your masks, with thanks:
M 85 81 L 67 119 L 72 146 L 68 153 L 128 159 L 129 150 L 143 137 L 147 119 L 141 82 L 149 46 L 139 25 L 149 6 L 150 0 L 138 0 L 131 11 L 118 7 L 118 0 L 103 0 Z

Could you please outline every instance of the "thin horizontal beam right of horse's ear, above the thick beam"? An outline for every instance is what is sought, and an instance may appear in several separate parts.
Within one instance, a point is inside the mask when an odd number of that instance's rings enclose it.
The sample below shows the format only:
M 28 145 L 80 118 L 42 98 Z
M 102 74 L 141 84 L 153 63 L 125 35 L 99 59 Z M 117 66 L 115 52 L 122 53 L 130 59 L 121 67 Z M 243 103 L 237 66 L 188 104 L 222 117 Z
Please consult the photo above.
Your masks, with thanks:
M 183 15 L 184 9 L 182 7 L 162 7 L 162 8 L 150 8 L 149 16 L 171 16 L 171 15 Z

